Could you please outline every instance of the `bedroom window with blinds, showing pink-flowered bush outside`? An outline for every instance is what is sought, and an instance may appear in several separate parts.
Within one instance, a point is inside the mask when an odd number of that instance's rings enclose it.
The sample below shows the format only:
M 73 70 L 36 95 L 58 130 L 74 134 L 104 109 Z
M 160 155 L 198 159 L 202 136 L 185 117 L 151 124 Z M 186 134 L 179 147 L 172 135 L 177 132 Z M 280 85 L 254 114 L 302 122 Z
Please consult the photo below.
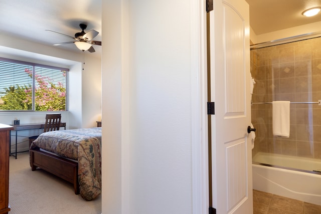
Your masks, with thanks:
M 0 111 L 67 111 L 68 71 L 0 58 Z

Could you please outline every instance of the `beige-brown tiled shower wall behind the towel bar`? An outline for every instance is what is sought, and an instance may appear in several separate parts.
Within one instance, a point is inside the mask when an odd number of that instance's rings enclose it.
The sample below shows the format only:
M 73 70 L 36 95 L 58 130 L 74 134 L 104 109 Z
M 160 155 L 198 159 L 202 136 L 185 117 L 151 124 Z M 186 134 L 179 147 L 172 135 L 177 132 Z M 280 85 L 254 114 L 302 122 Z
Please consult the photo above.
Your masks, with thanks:
M 321 38 L 251 50 L 252 102 L 321 100 Z M 269 152 L 321 159 L 321 106 L 290 104 L 290 137 L 272 134 L 272 104 L 252 104 L 254 156 Z

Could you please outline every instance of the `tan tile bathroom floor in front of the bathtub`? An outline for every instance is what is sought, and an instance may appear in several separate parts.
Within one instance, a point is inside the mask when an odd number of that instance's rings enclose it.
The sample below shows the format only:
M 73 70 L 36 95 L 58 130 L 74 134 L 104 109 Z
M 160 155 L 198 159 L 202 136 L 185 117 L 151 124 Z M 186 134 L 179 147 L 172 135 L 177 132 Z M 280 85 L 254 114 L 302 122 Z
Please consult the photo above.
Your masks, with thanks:
M 253 189 L 254 214 L 321 214 L 321 206 Z

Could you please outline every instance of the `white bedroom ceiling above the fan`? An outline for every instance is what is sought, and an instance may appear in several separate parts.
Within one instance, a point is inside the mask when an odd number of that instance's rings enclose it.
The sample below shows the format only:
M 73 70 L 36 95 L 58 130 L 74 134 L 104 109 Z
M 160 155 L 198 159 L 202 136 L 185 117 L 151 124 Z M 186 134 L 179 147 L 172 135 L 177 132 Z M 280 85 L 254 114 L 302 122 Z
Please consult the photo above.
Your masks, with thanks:
M 56 31 L 74 37 L 81 32 L 80 23 L 87 29 L 99 32 L 93 40 L 101 41 L 102 0 L 0 0 L 0 32 L 45 45 L 74 41 Z M 55 46 L 74 52 L 81 52 L 72 44 Z M 101 54 L 101 47 L 93 45 L 95 53 Z

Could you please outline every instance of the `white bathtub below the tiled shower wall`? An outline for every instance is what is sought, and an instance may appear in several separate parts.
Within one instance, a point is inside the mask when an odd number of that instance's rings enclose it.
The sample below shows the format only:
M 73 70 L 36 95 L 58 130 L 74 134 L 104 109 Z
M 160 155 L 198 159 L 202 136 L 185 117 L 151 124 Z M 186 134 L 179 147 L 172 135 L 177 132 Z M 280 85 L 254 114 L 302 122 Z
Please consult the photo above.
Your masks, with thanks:
M 253 189 L 321 205 L 321 160 L 259 152 L 252 166 Z

